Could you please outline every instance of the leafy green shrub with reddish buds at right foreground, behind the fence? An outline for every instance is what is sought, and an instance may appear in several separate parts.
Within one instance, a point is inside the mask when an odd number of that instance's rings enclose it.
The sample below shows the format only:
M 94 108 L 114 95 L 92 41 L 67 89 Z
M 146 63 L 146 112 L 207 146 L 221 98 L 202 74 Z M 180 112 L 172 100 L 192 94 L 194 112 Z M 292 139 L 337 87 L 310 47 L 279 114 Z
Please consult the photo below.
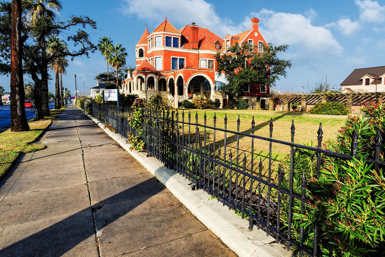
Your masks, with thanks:
M 380 104 L 365 104 L 363 119 L 349 116 L 337 133 L 336 141 L 328 141 L 324 148 L 346 155 L 352 152 L 352 135 L 357 128 L 357 158 L 344 160 L 322 155 L 320 178 L 315 178 L 316 153 L 294 148 L 293 191 L 301 194 L 301 177 L 308 185 L 305 215 L 300 205 L 293 207 L 292 233 L 299 241 L 300 225 L 304 225 L 304 245 L 313 248 L 314 220 L 318 219 L 318 249 L 320 256 L 384 256 L 385 242 L 385 174 L 383 165 L 376 171 L 372 163 L 373 143 L 380 128 L 384 138 L 384 113 Z M 380 160 L 384 160 L 385 144 L 380 146 Z M 290 158 L 283 161 L 283 185 L 288 187 Z M 288 197 L 283 196 L 281 220 L 287 220 Z M 318 216 L 318 217 L 317 217 Z M 303 219 L 301 221 L 301 219 Z M 287 231 L 287 226 L 283 227 Z M 333 253 L 329 255 L 329 242 Z

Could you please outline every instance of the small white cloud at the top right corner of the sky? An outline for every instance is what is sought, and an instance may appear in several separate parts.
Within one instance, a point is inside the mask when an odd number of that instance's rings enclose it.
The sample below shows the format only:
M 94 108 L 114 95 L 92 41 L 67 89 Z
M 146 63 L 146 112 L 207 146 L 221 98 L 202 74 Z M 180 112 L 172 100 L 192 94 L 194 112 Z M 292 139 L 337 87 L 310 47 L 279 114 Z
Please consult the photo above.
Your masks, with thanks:
M 355 3 L 360 8 L 360 20 L 375 23 L 385 20 L 385 6 L 381 6 L 377 1 L 355 0 Z

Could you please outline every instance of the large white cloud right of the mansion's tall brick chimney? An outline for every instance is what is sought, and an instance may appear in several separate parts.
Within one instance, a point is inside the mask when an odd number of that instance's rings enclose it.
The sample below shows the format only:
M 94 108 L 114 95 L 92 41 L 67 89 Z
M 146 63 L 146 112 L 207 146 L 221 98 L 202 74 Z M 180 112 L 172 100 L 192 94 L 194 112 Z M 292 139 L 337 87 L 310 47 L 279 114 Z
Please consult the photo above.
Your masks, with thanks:
M 259 24 L 265 39 L 275 44 L 297 46 L 309 53 L 340 54 L 343 51 L 330 30 L 312 25 L 310 18 L 301 14 L 262 9 L 255 15 L 261 19 Z

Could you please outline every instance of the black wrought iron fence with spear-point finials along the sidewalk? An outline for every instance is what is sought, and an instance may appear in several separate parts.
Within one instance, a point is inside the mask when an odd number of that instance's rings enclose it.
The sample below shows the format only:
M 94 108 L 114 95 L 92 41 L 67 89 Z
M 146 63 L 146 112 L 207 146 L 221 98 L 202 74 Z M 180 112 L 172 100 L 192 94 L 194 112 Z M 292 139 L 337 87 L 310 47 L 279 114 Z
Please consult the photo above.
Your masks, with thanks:
M 91 114 L 104 123 L 109 123 L 116 133 L 127 138 L 127 133 L 138 135 L 138 131 L 130 126 L 134 110 L 127 107 L 91 104 Z M 317 131 L 316 147 L 295 144 L 295 125 L 290 128 L 291 141 L 273 139 L 273 120 L 269 122 L 269 137 L 256 135 L 254 117 L 251 121 L 251 133 L 240 132 L 241 121 L 238 116 L 237 131 L 227 129 L 228 119 L 224 118 L 223 128 L 217 126 L 216 116 L 213 117 L 213 126 L 207 125 L 206 113 L 203 124 L 198 122 L 198 114 L 195 117 L 191 113 L 183 111 L 164 111 L 143 109 L 145 122 L 143 123 L 144 147 L 148 156 L 153 156 L 162 161 L 167 167 L 174 169 L 180 175 L 191 181 L 192 190 L 205 190 L 213 198 L 221 201 L 223 206 L 230 209 L 242 218 L 249 218 L 249 228 L 263 228 L 266 235 L 274 235 L 276 242 L 284 241 L 287 249 L 296 247 L 300 256 L 317 256 L 318 220 L 315 219 L 313 227 L 313 249 L 303 244 L 304 226 L 298 226 L 298 231 L 293 231 L 293 212 L 295 205 L 300 209 L 300 214 L 305 213 L 305 203 L 309 200 L 305 196 L 306 177 L 294 177 L 294 150 L 306 149 L 316 153 L 316 176 L 320 176 L 321 155 L 328 155 L 342 160 L 350 160 L 357 156 L 357 131 L 353 133 L 352 155 L 345 155 L 322 149 L 323 131 L 320 123 Z M 218 141 L 218 134 L 223 139 Z M 230 138 L 236 147 L 229 150 Z M 243 155 L 239 151 L 240 139 L 250 139 L 250 151 Z M 254 153 L 254 141 L 267 143 L 268 156 L 266 165 L 263 165 L 261 156 Z M 384 161 L 379 161 L 380 145 L 382 138 L 377 133 L 374 143 L 374 160 L 366 160 L 384 166 Z M 273 167 L 272 145 L 278 144 L 280 148 L 286 147 L 290 155 L 290 167 L 288 168 L 288 185 L 283 183 L 283 168 L 277 165 Z M 265 167 L 266 166 L 266 167 Z M 266 171 L 266 175 L 263 175 Z M 273 176 L 276 176 L 276 178 Z M 293 190 L 293 180 L 301 182 L 301 192 Z M 283 206 L 286 206 L 283 210 Z M 281 213 L 287 211 L 287 220 L 281 218 Z M 302 222 L 301 222 L 302 223 Z M 297 233 L 299 240 L 293 237 Z M 333 245 L 331 244 L 331 247 Z M 330 251 L 332 254 L 332 251 Z

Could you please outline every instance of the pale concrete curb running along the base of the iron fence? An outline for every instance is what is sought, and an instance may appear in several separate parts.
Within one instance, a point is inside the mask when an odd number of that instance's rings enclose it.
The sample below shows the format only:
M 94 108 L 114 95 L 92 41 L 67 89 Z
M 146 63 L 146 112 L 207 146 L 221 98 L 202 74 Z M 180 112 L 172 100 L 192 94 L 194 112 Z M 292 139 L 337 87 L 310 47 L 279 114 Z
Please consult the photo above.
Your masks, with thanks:
M 222 203 L 216 199 L 210 200 L 210 195 L 207 192 L 203 190 L 192 191 L 189 181 L 183 176 L 166 168 L 154 157 L 146 157 L 144 151 L 130 150 L 131 144 L 127 143 L 126 138 L 104 128 L 104 124 L 89 114 L 86 115 L 165 185 L 198 220 L 236 254 L 241 257 L 291 256 L 290 251 L 287 251 L 281 244 L 275 244 L 275 239 L 266 236 L 266 232 L 256 228 L 249 230 L 248 220 L 243 220 L 235 215 L 233 211 L 223 207 Z

